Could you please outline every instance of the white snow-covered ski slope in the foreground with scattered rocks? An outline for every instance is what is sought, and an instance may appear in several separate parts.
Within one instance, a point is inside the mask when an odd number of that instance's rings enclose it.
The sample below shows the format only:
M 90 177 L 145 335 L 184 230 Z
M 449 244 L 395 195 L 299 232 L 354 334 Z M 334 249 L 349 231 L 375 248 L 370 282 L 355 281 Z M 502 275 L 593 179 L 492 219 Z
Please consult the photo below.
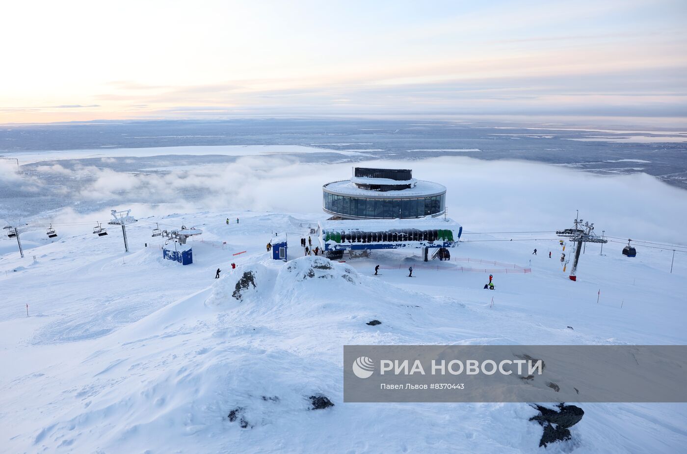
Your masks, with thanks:
M 226 225 L 227 216 L 240 223 Z M 684 344 L 686 298 L 676 290 L 687 278 L 684 255 L 671 274 L 666 251 L 639 249 L 629 259 L 620 245 L 605 245 L 604 256 L 587 245 L 578 282 L 561 271 L 557 240 L 464 242 L 448 263 L 425 264 L 412 251 L 375 251 L 346 263 L 301 257 L 297 238 L 325 217 L 145 218 L 203 229 L 189 239 L 188 266 L 164 260 L 161 238 L 141 226 L 127 231 L 129 253 L 115 230 L 98 237 L 63 228 L 52 242 L 27 234 L 25 259 L 11 240 L 0 240 L 0 451 L 684 450 L 684 404 L 580 404 L 585 416 L 571 429 L 574 440 L 544 450 L 527 404 L 355 404 L 342 394 L 349 344 Z M 275 231 L 293 238 L 289 262 L 269 260 L 265 245 Z M 488 273 L 456 271 L 454 262 L 467 258 L 485 271 L 491 266 L 475 259 L 531 260 L 532 273 L 495 273 L 496 291 L 485 291 Z M 408 264 L 415 264 L 412 279 Z M 256 287 L 236 299 L 246 271 Z M 382 324 L 366 325 L 372 319 Z M 308 409 L 313 394 L 335 406 Z M 227 417 L 237 408 L 249 427 Z

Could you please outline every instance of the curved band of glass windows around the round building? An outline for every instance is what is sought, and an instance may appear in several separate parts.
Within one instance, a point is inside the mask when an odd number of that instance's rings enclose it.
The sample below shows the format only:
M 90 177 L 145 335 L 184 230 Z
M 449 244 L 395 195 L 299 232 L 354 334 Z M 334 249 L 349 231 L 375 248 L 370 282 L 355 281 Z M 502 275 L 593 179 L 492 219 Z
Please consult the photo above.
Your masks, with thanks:
M 356 218 L 418 218 L 444 212 L 446 194 L 420 198 L 364 198 L 324 192 L 326 211 Z

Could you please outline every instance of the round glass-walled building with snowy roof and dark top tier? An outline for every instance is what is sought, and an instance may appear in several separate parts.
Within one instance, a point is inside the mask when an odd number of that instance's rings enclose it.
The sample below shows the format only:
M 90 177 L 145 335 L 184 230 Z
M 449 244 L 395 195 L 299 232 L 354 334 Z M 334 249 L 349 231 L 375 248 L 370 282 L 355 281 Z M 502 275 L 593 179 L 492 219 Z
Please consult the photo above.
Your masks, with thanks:
M 439 216 L 446 188 L 416 180 L 407 169 L 354 168 L 350 180 L 322 186 L 325 212 L 344 219 L 394 219 Z

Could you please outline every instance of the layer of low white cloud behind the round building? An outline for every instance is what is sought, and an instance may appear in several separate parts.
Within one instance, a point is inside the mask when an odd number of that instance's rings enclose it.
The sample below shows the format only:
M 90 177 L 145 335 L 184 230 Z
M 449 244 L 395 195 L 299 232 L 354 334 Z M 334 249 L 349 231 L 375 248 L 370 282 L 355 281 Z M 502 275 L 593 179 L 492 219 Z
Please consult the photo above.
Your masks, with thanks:
M 449 216 L 467 231 L 551 231 L 570 227 L 579 209 L 582 218 L 596 223 L 599 233 L 603 229 L 607 235 L 623 238 L 684 241 L 687 192 L 646 174 L 601 177 L 542 163 L 468 157 L 371 161 L 365 166 L 412 168 L 415 177 L 446 185 Z M 12 185 L 35 190 L 41 184 L 9 168 L 0 170 L 3 181 Z M 160 174 L 93 166 L 71 170 L 59 165 L 40 171 L 82 181 L 64 197 L 73 206 L 78 203 L 78 216 L 89 220 L 93 214 L 84 215 L 87 207 L 103 212 L 104 203 L 118 208 L 142 204 L 137 216 L 172 210 L 210 210 L 229 216 L 246 209 L 324 216 L 322 184 L 348 177 L 351 165 L 244 157 L 236 163 Z

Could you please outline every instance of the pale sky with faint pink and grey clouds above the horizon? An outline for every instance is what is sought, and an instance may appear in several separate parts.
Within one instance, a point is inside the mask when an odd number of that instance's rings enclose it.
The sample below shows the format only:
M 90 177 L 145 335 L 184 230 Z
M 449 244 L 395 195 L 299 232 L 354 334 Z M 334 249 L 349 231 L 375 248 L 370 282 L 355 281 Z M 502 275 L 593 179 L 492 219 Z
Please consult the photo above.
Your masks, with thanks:
M 687 117 L 687 1 L 16 1 L 0 123 Z

